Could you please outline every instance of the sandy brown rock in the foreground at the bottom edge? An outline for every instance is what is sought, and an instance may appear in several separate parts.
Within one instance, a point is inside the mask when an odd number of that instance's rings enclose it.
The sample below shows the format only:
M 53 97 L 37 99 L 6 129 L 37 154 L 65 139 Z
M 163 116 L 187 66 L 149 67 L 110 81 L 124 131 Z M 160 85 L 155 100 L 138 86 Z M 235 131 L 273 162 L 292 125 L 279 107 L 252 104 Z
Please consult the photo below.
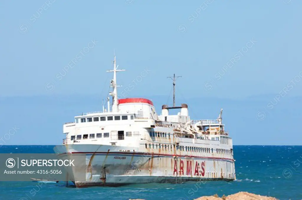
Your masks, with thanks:
M 255 195 L 249 192 L 238 192 L 233 195 L 223 196 L 219 198 L 217 195 L 214 196 L 203 196 L 195 200 L 278 200 L 274 197 L 267 197 L 261 195 Z

